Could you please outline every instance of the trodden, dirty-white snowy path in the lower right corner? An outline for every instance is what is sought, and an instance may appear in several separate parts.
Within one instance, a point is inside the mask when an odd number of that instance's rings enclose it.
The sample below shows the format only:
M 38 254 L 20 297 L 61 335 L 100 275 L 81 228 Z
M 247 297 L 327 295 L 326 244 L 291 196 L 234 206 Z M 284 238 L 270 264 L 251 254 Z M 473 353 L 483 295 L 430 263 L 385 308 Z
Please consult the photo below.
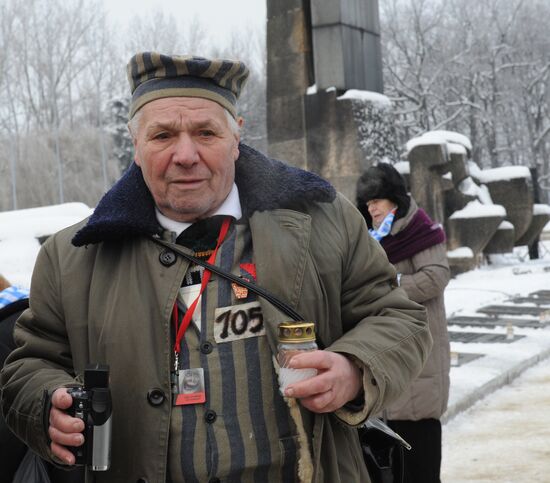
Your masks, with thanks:
M 550 483 L 550 359 L 443 426 L 442 483 Z

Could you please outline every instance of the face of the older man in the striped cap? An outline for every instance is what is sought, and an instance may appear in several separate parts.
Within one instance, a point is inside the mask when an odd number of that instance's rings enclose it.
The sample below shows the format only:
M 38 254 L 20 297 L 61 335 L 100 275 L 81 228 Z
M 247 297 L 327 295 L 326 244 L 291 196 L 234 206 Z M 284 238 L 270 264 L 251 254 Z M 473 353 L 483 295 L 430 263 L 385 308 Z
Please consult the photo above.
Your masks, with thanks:
M 239 135 L 208 99 L 169 97 L 141 108 L 135 161 L 163 215 L 194 222 L 223 203 L 235 178 Z

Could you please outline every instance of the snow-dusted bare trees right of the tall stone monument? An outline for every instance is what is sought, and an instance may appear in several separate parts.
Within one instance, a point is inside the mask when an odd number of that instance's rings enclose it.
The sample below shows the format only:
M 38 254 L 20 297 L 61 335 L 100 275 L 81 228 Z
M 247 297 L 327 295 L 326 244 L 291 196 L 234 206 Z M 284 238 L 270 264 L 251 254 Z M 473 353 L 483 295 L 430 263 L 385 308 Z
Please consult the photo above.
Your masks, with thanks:
M 388 0 L 381 7 L 399 140 L 455 130 L 470 137 L 480 165 L 538 166 L 548 179 L 548 2 Z

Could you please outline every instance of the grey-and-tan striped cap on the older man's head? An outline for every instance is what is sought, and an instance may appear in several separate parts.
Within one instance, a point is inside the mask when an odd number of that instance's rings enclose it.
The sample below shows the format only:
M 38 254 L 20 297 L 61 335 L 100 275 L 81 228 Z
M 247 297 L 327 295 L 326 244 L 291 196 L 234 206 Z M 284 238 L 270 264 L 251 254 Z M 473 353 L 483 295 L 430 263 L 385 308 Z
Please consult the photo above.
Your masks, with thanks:
M 148 102 L 163 97 L 201 97 L 237 117 L 236 104 L 248 78 L 243 62 L 193 55 L 141 52 L 127 66 L 132 93 L 129 118 Z

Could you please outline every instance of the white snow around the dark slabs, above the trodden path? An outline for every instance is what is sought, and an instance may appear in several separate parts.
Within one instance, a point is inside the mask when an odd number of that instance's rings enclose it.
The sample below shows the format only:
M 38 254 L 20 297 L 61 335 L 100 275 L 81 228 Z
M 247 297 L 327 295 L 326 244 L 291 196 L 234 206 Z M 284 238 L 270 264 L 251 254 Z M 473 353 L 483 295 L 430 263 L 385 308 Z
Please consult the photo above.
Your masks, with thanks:
M 458 275 L 445 290 L 447 317 L 481 316 L 478 308 L 502 304 L 515 296 L 526 296 L 537 290 L 550 288 L 550 244 L 541 244 L 544 258 L 522 260 L 526 248 L 516 249 L 514 254 L 497 257 L 498 264 L 485 265 L 477 270 Z M 507 327 L 449 326 L 455 332 L 483 332 L 506 334 Z M 522 364 L 533 363 L 550 352 L 550 327 L 518 328 L 515 335 L 525 337 L 512 343 L 464 343 L 451 342 L 451 352 L 482 354 L 472 362 L 451 368 L 451 391 L 448 417 L 453 417 L 472 402 L 472 394 L 498 387 L 509 372 Z M 533 359 L 535 358 L 535 359 Z

